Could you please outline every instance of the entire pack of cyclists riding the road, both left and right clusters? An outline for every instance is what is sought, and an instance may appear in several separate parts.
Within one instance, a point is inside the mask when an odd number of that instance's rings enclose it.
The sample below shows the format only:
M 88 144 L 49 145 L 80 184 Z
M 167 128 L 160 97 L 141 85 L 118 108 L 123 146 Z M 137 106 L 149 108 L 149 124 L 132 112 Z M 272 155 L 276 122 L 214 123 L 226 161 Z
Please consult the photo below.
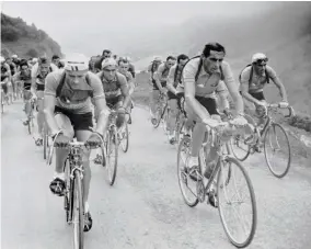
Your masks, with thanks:
M 187 170 L 193 178 L 199 167 L 198 154 L 204 143 L 205 127 L 217 127 L 220 118 L 220 106 L 223 113 L 232 115 L 232 123 L 243 126 L 247 124 L 244 112 L 264 116 L 267 102 L 263 93 L 264 87 L 273 81 L 279 89 L 283 104 L 288 104 L 287 94 L 275 70 L 267 66 L 268 58 L 262 53 L 252 56 L 251 64 L 242 69 L 240 86 L 235 82 L 231 67 L 224 60 L 226 48 L 219 43 L 208 43 L 200 55 L 189 58 L 185 54 L 168 56 L 162 61 L 156 56 L 148 67 L 150 72 L 150 107 L 151 123 L 157 122 L 156 112 L 159 97 L 165 95 L 170 106 L 168 118 L 169 142 L 174 144 L 176 131 L 174 124 L 178 111 L 185 113 L 186 131 L 192 136 L 191 158 Z M 108 126 L 111 110 L 117 111 L 116 125 L 122 128 L 126 113 L 133 109 L 131 94 L 136 87 L 135 68 L 128 57 L 112 55 L 104 49 L 102 56 L 91 59 L 76 55 L 59 61 L 58 56 L 18 59 L 12 56 L 1 58 L 1 86 L 4 93 L 11 83 L 13 98 L 22 89 L 24 112 L 27 125 L 32 115 L 31 100 L 37 105 L 38 138 L 36 145 L 42 145 L 43 128 L 46 124 L 56 148 L 56 166 L 50 191 L 59 196 L 65 191 L 64 163 L 68 150 L 64 148 L 74 137 L 85 145 L 101 145 Z M 229 94 L 233 101 L 234 111 L 230 111 Z M 95 120 L 95 122 L 94 122 Z M 95 124 L 94 124 L 95 123 Z M 90 151 L 83 154 L 83 201 L 84 231 L 92 227 L 92 216 L 88 203 L 91 169 Z M 209 178 L 210 169 L 215 167 L 218 154 L 211 147 L 207 157 L 204 176 Z M 209 199 L 217 206 L 215 194 Z

